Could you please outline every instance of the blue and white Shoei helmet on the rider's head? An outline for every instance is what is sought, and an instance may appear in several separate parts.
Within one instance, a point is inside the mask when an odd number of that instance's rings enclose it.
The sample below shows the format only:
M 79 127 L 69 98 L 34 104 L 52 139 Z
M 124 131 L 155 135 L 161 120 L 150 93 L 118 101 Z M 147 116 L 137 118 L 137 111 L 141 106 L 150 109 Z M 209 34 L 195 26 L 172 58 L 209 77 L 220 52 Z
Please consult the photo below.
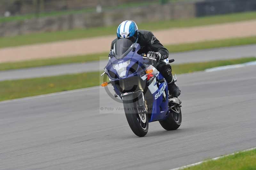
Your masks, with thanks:
M 128 38 L 133 43 L 138 40 L 138 27 L 132 20 L 122 22 L 117 28 L 117 38 Z

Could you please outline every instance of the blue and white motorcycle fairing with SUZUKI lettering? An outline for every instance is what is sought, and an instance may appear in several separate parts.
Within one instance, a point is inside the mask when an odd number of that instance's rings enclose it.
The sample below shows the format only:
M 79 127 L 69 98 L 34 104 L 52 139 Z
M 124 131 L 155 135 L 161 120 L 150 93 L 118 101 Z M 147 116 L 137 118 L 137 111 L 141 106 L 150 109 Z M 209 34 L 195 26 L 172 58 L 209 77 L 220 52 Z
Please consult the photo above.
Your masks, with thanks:
M 150 61 L 143 59 L 141 55 L 137 53 L 139 50 L 140 44 L 135 44 L 133 50 L 131 50 L 124 58 L 109 58 L 108 64 L 104 70 L 108 74 L 109 80 L 113 82 L 112 85 L 114 90 L 120 98 L 122 98 L 122 92 L 120 92 L 120 87 L 118 87 L 115 82 L 125 81 L 125 79 L 128 80 L 132 77 L 141 78 L 141 80 L 147 84 L 147 87 L 151 93 L 151 98 L 153 98 L 152 108 L 150 108 L 151 111 L 149 111 L 151 114 L 149 122 L 164 120 L 168 117 L 169 113 L 167 82 L 154 66 L 146 64 L 150 63 Z M 113 65 L 119 65 L 127 61 L 129 61 L 129 65 L 125 65 L 125 73 L 123 73 L 122 77 L 120 77 L 120 74 L 117 73 L 117 70 L 113 67 Z M 136 65 L 136 68 L 134 65 Z M 122 64 L 120 66 L 122 66 Z M 153 78 L 150 79 L 149 82 L 147 80 L 148 74 L 145 73 L 146 69 L 153 69 Z M 164 80 L 164 82 L 159 83 L 159 80 Z

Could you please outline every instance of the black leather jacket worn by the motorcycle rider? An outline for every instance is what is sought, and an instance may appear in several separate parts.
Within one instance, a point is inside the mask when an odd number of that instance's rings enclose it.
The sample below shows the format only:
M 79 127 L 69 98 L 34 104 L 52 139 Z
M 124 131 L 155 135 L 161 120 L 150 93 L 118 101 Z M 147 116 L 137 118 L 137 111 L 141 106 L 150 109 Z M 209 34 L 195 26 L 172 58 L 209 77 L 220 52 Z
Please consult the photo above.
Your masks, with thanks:
M 146 30 L 139 30 L 138 42 L 141 49 L 138 51 L 139 54 L 148 53 L 148 51 L 159 52 L 161 54 L 160 60 L 168 58 L 169 51 L 156 39 L 155 35 Z M 111 50 L 114 48 L 117 38 L 111 43 Z

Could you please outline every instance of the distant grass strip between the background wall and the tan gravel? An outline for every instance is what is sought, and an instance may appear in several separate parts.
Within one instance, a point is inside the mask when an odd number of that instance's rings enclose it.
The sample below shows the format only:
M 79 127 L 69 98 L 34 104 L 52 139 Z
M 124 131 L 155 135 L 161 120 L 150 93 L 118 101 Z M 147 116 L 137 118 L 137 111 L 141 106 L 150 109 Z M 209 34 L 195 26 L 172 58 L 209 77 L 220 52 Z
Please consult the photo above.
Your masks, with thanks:
M 168 20 L 138 24 L 139 29 L 160 30 L 167 28 L 192 27 L 236 22 L 256 19 L 256 12 L 234 13 L 193 19 Z M 96 27 L 87 29 L 74 29 L 68 31 L 33 33 L 11 37 L 1 37 L 0 48 L 29 45 L 37 43 L 49 43 L 55 41 L 89 38 L 103 35 L 116 35 L 117 25 L 111 27 Z

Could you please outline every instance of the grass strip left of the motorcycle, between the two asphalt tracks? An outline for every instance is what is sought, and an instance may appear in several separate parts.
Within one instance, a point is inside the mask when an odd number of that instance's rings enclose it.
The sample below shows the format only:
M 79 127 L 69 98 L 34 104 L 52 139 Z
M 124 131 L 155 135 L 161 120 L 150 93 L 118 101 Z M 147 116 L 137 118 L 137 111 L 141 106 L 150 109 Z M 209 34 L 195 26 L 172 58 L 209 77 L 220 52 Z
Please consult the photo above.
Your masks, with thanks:
M 97 86 L 100 72 L 0 81 L 0 101 Z

